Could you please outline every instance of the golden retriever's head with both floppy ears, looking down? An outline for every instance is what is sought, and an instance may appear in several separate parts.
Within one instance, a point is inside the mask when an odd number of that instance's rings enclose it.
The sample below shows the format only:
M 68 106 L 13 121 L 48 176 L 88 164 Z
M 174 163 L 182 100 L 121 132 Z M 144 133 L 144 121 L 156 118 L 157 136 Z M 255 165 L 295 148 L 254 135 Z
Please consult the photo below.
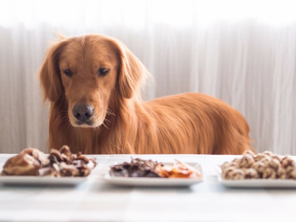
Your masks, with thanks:
M 44 99 L 67 101 L 72 126 L 100 126 L 111 99 L 139 93 L 144 65 L 120 41 L 103 35 L 62 38 L 39 71 Z

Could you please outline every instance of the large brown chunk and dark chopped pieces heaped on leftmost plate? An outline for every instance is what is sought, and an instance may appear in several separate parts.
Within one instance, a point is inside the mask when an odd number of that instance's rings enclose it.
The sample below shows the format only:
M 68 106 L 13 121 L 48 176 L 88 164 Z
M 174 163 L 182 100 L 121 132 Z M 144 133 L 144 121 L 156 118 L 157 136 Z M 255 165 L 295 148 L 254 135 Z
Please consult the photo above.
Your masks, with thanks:
M 48 158 L 38 149 L 27 148 L 7 160 L 1 175 L 88 176 L 95 166 L 95 159 L 72 154 L 68 146 L 51 149 Z

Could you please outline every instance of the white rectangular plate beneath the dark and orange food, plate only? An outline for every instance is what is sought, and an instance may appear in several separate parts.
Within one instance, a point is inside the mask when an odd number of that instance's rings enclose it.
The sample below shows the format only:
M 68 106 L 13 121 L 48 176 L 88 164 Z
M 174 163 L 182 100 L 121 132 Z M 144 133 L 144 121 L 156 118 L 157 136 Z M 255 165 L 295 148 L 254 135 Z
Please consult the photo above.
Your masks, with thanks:
M 163 163 L 172 165 L 173 163 Z M 200 164 L 187 163 L 200 171 L 201 177 L 196 178 L 157 178 L 157 177 L 121 177 L 110 176 L 109 172 L 105 174 L 103 180 L 105 183 L 125 186 L 190 186 L 203 181 L 202 169 Z

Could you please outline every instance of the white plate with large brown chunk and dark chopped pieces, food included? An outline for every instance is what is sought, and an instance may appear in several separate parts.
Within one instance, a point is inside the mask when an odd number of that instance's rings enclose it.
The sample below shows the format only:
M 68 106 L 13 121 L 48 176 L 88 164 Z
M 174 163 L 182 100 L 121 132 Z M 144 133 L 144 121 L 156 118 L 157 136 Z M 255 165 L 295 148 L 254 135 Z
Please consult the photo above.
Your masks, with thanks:
M 51 149 L 48 157 L 27 148 L 9 158 L 0 169 L 2 184 L 78 184 L 86 181 L 96 167 L 96 159 L 73 154 L 68 146 Z

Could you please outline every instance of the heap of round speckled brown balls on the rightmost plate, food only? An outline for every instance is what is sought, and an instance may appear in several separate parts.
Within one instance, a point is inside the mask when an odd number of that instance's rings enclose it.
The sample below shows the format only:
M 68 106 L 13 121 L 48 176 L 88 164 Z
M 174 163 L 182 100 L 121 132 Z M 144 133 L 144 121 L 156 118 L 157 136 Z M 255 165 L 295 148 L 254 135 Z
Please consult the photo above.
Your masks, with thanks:
M 241 159 L 223 163 L 221 170 L 224 179 L 296 179 L 295 161 L 270 151 L 255 155 L 246 150 Z

